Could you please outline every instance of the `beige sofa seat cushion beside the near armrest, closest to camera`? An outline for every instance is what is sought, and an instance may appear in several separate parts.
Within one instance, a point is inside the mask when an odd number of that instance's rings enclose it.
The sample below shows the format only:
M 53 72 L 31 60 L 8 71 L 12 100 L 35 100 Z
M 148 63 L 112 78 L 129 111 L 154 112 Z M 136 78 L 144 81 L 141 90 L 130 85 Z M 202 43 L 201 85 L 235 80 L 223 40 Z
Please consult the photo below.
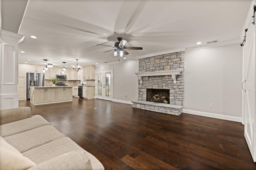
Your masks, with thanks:
M 68 137 L 59 138 L 42 146 L 38 146 L 37 148 L 23 152 L 22 154 L 30 158 L 36 164 L 40 164 L 59 155 L 77 150 L 84 151 L 86 156 L 91 161 L 93 170 L 104 170 L 104 166 L 100 163 L 100 161 L 97 158 L 95 158 L 92 154 L 81 148 L 78 144 L 76 144 L 73 140 L 71 140 Z

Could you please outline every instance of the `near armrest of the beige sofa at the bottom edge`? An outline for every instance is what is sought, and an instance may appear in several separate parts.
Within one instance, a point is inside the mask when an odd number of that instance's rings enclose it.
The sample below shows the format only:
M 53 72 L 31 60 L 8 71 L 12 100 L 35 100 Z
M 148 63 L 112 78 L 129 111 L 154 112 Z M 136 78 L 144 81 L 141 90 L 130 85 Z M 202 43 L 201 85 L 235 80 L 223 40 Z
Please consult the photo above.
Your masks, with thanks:
M 62 154 L 28 170 L 92 170 L 90 159 L 82 150 Z

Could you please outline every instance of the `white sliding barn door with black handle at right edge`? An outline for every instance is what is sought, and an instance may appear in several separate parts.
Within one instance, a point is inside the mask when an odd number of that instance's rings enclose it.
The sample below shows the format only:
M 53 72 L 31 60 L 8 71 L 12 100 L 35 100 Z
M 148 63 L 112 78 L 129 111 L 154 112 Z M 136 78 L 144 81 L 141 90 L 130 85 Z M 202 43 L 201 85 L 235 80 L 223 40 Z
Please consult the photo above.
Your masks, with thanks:
M 246 33 L 246 43 L 243 47 L 243 123 L 244 137 L 256 162 L 256 91 L 255 91 L 255 31 L 256 27 L 250 24 Z

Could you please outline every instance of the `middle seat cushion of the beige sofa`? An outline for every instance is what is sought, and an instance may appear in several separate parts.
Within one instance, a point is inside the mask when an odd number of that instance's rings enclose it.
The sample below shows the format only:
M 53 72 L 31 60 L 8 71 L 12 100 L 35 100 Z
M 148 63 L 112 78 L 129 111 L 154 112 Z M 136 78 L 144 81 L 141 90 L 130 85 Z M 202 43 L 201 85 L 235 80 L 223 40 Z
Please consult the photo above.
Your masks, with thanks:
M 51 125 L 46 125 L 4 138 L 20 152 L 25 152 L 63 137 L 65 136 L 56 130 L 56 128 Z

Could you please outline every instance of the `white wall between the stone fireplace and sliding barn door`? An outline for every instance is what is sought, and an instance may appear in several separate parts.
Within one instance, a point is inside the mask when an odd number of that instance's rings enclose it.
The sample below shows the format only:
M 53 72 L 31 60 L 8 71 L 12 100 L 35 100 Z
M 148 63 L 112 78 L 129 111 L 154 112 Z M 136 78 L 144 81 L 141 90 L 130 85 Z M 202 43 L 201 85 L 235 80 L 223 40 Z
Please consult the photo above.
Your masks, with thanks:
M 184 113 L 242 120 L 240 44 L 186 51 Z M 210 108 L 210 103 L 213 108 Z

